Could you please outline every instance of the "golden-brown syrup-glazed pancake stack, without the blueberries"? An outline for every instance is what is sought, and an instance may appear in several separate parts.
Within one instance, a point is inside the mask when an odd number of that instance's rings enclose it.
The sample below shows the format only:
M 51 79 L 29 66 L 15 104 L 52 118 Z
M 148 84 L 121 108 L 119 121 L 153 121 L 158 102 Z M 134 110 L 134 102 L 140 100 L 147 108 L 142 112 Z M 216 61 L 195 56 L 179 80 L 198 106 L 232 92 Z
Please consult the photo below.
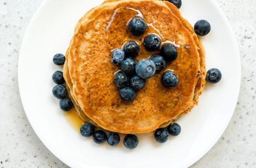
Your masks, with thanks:
M 127 27 L 135 16 L 148 24 L 140 36 L 133 35 Z M 136 61 L 158 54 L 143 46 L 148 33 L 156 33 L 162 44 L 175 45 L 178 57 L 149 78 L 133 102 L 123 102 L 113 83 L 118 67 L 111 64 L 111 51 L 135 40 L 140 45 Z M 179 84 L 171 89 L 161 83 L 162 73 L 169 70 L 179 78 Z M 187 114 L 202 94 L 206 70 L 202 44 L 176 6 L 162 0 L 106 0 L 75 26 L 63 74 L 82 120 L 102 129 L 131 134 L 151 132 Z

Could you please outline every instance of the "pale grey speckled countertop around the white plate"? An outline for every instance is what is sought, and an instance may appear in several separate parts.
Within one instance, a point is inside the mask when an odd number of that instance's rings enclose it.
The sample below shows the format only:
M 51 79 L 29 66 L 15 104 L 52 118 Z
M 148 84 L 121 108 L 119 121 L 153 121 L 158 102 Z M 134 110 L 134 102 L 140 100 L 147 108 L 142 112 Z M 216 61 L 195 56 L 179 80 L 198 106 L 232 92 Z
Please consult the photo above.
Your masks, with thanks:
M 42 1 L 0 0 L 0 168 L 67 167 L 35 135 L 19 95 L 20 45 Z M 239 45 L 241 91 L 228 128 L 192 168 L 256 168 L 256 0 L 216 2 L 228 17 Z

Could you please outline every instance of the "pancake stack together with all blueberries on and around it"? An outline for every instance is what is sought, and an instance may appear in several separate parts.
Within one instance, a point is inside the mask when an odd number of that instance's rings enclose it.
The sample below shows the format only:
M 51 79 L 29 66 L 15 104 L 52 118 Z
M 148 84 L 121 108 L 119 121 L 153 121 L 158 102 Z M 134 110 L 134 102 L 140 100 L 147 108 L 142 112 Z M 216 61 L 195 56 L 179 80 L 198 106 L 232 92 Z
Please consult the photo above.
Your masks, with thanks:
M 66 57 L 54 56 L 54 64 L 64 66 L 63 74 L 54 72 L 53 94 L 62 110 L 74 106 L 85 122 L 82 136 L 115 146 L 123 133 L 124 146 L 134 149 L 134 134 L 155 131 L 155 140 L 166 142 L 180 134 L 174 121 L 198 104 L 205 81 L 220 81 L 217 69 L 206 73 L 196 35 L 208 34 L 209 22 L 199 20 L 194 31 L 181 4 L 106 0 L 78 21 Z

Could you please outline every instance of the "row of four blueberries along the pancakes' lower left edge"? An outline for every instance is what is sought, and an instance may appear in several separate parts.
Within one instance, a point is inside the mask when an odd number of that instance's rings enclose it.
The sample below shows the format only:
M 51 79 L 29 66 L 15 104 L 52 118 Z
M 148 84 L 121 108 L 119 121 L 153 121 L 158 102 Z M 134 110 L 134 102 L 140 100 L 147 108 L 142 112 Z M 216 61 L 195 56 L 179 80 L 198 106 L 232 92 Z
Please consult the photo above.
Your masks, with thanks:
M 103 130 L 95 131 L 94 125 L 91 123 L 84 123 L 80 129 L 81 135 L 84 137 L 93 136 L 95 143 L 101 144 L 106 140 L 110 146 L 116 146 L 120 142 L 118 133 L 110 132 L 108 135 Z M 139 140 L 137 136 L 128 134 L 123 139 L 123 144 L 128 149 L 135 149 L 138 146 Z

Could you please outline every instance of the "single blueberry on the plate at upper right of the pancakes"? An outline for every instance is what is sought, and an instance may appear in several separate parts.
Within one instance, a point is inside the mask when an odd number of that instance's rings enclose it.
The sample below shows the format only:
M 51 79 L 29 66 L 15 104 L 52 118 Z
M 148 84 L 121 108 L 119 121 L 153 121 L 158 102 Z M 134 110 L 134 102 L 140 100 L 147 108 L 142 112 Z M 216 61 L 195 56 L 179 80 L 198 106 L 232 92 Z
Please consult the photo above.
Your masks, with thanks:
M 194 30 L 199 36 L 206 36 L 211 30 L 211 25 L 206 20 L 198 20 L 195 23 Z

